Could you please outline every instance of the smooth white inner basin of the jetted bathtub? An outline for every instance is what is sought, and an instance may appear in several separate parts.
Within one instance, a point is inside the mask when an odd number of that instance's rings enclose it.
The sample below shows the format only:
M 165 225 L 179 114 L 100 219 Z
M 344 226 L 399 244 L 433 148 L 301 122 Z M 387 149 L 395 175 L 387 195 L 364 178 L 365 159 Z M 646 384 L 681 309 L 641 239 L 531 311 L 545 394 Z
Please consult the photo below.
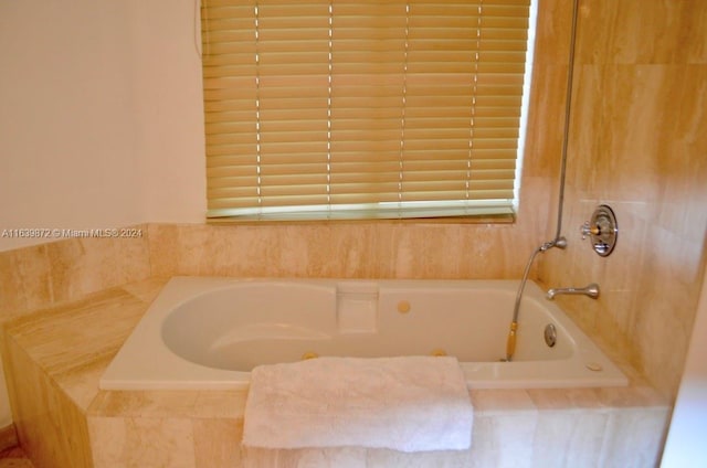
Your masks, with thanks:
M 449 284 L 244 283 L 180 305 L 161 338 L 190 362 L 241 372 L 315 355 L 449 354 L 490 362 L 504 357 L 513 300 L 511 290 Z M 524 306 L 515 359 L 570 357 L 570 333 L 537 299 Z M 558 328 L 553 347 L 542 338 L 549 323 Z

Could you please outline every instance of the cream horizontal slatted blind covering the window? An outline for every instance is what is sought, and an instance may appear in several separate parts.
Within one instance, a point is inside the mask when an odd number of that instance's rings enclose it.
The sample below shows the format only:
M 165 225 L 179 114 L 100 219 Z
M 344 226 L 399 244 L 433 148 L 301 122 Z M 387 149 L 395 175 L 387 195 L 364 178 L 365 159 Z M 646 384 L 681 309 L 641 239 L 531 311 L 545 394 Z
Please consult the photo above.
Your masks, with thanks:
M 209 217 L 513 213 L 529 0 L 202 0 Z

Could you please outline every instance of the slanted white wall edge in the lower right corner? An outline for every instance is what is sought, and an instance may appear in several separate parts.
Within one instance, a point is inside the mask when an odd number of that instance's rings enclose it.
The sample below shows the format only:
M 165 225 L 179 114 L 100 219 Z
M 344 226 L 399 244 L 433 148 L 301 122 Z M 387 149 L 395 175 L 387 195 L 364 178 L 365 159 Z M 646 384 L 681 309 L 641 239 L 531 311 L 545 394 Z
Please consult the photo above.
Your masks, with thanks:
M 663 468 L 707 467 L 707 275 L 685 372 L 663 453 Z

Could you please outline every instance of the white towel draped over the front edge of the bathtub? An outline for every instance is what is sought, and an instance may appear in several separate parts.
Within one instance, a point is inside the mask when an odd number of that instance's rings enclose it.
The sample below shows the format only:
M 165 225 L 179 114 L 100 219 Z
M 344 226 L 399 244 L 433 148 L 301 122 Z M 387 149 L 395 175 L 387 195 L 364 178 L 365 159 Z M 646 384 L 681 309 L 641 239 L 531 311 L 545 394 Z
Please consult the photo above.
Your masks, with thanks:
M 455 358 L 318 358 L 253 370 L 243 445 L 463 450 L 473 418 Z

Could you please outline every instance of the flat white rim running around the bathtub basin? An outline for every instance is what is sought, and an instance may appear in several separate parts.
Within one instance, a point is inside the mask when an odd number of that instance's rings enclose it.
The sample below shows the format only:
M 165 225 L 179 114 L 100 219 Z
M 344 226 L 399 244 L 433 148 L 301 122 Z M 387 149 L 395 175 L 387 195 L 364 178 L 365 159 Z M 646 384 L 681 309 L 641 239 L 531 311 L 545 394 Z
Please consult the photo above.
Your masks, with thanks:
M 161 338 L 161 327 L 170 311 L 199 296 L 229 289 L 234 284 L 243 286 L 254 283 L 315 283 L 331 285 L 340 281 L 390 284 L 400 287 L 420 285 L 424 281 L 436 287 L 466 286 L 472 281 L 477 287 L 504 286 L 513 290 L 518 285 L 515 279 L 357 279 L 357 278 L 281 278 L 281 277 L 215 277 L 173 276 L 162 287 L 130 336 L 99 379 L 101 390 L 243 390 L 249 386 L 250 372 L 230 371 L 197 364 L 175 354 L 166 344 L 152 343 L 146 350 L 139 347 L 146 336 Z M 545 294 L 535 281 L 528 281 L 524 300 L 542 300 Z M 460 362 L 469 389 L 567 389 L 591 386 L 626 386 L 629 379 L 591 339 L 555 302 L 544 302 L 553 310 L 553 319 L 564 328 L 576 341 L 577 355 L 557 361 L 506 362 Z M 147 318 L 147 319 L 146 319 Z M 577 340 L 579 338 L 579 340 Z M 151 361 L 141 359 L 150 354 L 157 357 L 161 365 L 160 376 Z M 569 364 L 570 361 L 581 361 Z M 601 371 L 590 368 L 599 365 Z M 183 374 L 188 372 L 189 380 Z M 126 376 L 127 374 L 127 376 Z M 548 375 L 560 376 L 550 377 Z

